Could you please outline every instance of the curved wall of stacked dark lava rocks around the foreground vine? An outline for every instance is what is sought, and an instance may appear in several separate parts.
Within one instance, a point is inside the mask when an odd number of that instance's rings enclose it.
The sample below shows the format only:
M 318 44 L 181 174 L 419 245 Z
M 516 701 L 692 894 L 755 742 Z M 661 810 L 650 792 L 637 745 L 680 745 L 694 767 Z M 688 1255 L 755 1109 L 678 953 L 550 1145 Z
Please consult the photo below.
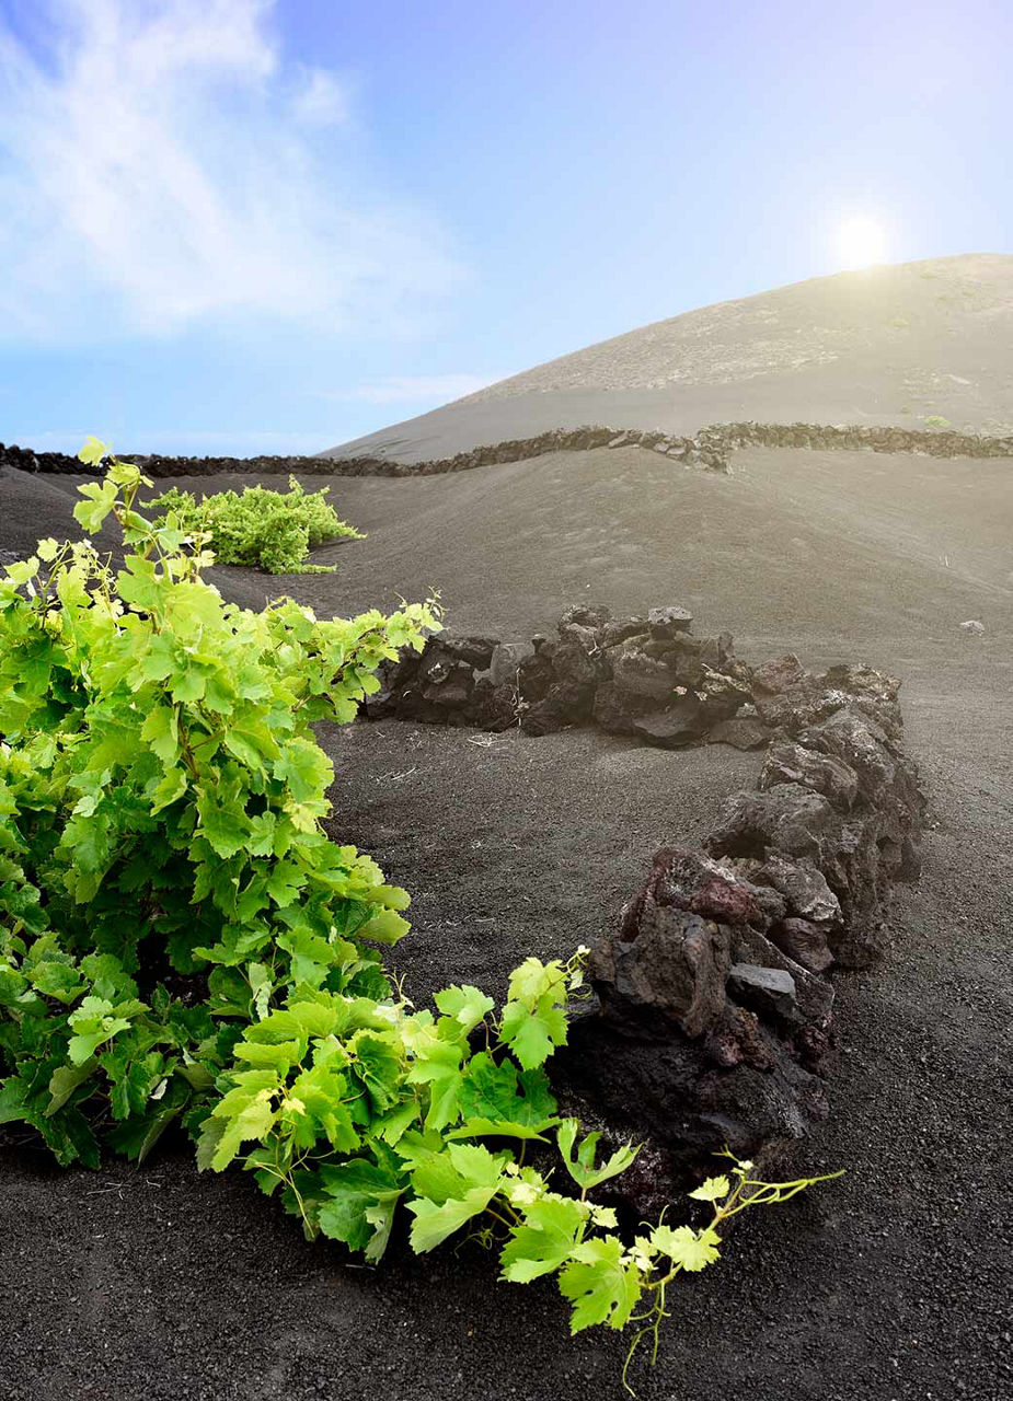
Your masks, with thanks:
M 769 1160 L 827 1114 L 835 967 L 883 953 L 895 881 L 919 870 L 925 797 L 900 681 L 737 660 L 682 608 L 567 609 L 558 637 L 432 637 L 387 667 L 370 717 L 545 734 L 566 724 L 766 754 L 699 849 L 663 848 L 598 940 L 594 1010 L 553 1058 L 565 1104 L 646 1143 L 619 1188 L 657 1210 L 709 1154 Z

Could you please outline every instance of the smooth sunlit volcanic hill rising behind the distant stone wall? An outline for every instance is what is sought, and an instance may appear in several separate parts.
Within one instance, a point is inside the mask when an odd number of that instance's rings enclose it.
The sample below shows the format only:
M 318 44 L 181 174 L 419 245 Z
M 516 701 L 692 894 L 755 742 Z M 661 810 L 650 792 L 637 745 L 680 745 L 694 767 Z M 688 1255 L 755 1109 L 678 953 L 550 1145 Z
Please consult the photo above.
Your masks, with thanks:
M 852 423 L 1002 434 L 1013 425 L 1013 256 L 815 277 L 657 321 L 331 448 L 404 462 L 611 423 Z M 521 432 L 523 426 L 523 432 Z

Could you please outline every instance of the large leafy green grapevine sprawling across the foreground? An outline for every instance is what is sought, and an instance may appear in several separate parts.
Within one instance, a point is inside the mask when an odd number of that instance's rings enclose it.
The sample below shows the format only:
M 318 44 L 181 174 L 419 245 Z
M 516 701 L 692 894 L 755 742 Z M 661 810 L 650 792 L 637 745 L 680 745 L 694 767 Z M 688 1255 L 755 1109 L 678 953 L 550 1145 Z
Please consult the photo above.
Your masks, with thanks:
M 322 827 L 314 722 L 352 720 L 439 608 L 244 611 L 202 577 L 209 532 L 139 509 L 146 486 L 111 458 L 80 488 L 120 569 L 48 539 L 0 579 L 0 1124 L 98 1167 L 179 1122 L 202 1170 L 241 1164 L 311 1240 L 375 1262 L 399 1213 L 418 1252 L 464 1231 L 504 1281 L 555 1275 L 573 1332 L 656 1353 L 668 1286 L 719 1258 L 723 1223 L 820 1178 L 730 1159 L 691 1194 L 705 1224 L 619 1230 L 598 1189 L 638 1149 L 581 1136 L 546 1073 L 587 950 L 525 960 L 499 1010 L 469 985 L 416 1010 L 380 953 L 406 892 Z

